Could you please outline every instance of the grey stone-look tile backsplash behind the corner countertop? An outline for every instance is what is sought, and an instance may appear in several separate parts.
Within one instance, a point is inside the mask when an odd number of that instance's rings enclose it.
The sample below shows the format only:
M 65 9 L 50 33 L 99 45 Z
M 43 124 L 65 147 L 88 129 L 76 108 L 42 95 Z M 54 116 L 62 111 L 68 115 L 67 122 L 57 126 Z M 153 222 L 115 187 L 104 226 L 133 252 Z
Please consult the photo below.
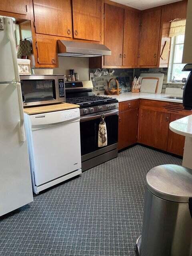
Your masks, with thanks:
M 90 73 L 93 73 L 94 71 L 95 69 L 89 69 Z M 94 76 L 92 80 L 93 86 L 94 86 L 94 92 L 96 94 L 98 93 L 104 94 L 110 78 L 117 78 L 117 77 L 118 79 L 121 78 L 123 80 L 123 78 L 126 78 L 127 81 L 129 80 L 129 82 L 126 82 L 125 91 L 130 91 L 130 86 L 132 84 L 133 76 L 135 75 L 136 77 L 138 77 L 141 73 L 163 73 L 164 81 L 163 81 L 162 93 L 165 93 L 166 87 L 181 88 L 183 86 L 183 84 L 167 83 L 168 68 L 136 68 L 136 69 L 115 69 L 114 68 L 114 74 L 112 76 L 110 76 L 109 74 L 106 76 L 100 76 L 100 77 Z

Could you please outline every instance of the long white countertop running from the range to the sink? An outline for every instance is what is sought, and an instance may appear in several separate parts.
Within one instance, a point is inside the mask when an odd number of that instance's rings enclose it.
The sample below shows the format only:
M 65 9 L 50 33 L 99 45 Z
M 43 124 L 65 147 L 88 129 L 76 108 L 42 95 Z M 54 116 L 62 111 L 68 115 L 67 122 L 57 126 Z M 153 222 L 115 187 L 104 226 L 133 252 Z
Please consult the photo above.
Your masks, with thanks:
M 124 92 L 120 95 L 101 95 L 101 96 L 116 98 L 119 102 L 123 102 L 127 100 L 146 99 L 146 100 L 161 100 L 161 101 L 182 103 L 182 100 L 174 100 L 174 99 L 166 98 L 169 96 L 176 96 L 176 95 L 170 95 L 170 94 L 164 94 L 164 93 Z M 178 97 L 182 97 L 182 96 L 178 96 Z

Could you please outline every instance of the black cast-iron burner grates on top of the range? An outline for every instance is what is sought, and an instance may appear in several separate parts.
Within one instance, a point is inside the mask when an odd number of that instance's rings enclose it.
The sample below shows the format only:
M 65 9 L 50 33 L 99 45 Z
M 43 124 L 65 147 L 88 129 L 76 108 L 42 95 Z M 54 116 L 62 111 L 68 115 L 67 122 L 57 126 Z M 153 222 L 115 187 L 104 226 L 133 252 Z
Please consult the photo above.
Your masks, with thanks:
M 72 104 L 92 104 L 92 103 L 104 103 L 108 101 L 116 100 L 115 98 L 103 97 L 103 96 L 83 96 L 66 99 L 67 103 Z

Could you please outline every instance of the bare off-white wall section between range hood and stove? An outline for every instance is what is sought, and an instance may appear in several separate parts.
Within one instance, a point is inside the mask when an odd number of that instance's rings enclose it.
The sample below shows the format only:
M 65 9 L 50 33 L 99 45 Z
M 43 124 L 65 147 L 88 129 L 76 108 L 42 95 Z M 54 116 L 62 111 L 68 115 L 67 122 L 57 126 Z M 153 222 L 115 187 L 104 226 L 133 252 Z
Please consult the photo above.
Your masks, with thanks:
M 53 74 L 68 75 L 70 69 L 79 74 L 79 80 L 89 80 L 89 59 L 74 57 L 58 57 L 59 67 L 54 68 Z

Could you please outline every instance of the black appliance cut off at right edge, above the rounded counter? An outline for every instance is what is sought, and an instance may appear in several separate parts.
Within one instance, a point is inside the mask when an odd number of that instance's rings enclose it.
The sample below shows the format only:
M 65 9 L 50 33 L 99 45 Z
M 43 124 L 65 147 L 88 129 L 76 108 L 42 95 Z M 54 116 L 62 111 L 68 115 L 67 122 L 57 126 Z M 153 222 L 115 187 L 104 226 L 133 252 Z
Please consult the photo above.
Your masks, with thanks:
M 182 71 L 190 71 L 184 86 L 183 106 L 185 109 L 192 110 L 192 64 L 186 64 Z

